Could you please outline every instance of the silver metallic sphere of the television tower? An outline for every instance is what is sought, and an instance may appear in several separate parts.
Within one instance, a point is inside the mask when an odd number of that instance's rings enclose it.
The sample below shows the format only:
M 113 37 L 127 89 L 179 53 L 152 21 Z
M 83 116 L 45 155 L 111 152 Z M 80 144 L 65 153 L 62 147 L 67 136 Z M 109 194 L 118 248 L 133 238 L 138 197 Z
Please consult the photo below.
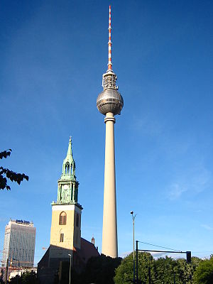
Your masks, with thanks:
M 120 114 L 123 106 L 124 99 L 116 89 L 104 89 L 97 97 L 97 109 L 101 114 Z

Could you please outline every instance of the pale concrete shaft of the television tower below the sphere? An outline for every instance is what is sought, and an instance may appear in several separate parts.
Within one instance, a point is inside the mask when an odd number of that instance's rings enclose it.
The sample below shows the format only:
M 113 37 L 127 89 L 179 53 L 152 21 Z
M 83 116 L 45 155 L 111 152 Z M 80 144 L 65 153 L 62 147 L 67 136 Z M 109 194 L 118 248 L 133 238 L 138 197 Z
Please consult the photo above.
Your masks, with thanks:
M 114 114 L 108 112 L 106 124 L 105 169 L 104 169 L 104 213 L 102 231 L 102 253 L 112 258 L 118 257 L 116 219 L 116 179 L 114 159 Z

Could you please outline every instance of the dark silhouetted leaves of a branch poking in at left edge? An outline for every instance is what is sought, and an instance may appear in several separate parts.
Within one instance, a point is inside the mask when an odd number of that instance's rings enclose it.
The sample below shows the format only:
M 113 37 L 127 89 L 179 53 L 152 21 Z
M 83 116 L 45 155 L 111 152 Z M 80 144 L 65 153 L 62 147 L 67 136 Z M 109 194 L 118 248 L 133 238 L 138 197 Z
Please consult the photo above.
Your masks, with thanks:
M 7 158 L 11 155 L 11 149 L 8 149 L 6 151 L 0 152 L 0 159 Z M 28 175 L 25 175 L 24 173 L 15 173 L 12 170 L 9 170 L 7 168 L 0 167 L 0 190 L 10 190 L 11 187 L 7 184 L 7 181 L 11 180 L 11 182 L 17 182 L 18 185 L 21 184 L 23 179 L 28 180 Z

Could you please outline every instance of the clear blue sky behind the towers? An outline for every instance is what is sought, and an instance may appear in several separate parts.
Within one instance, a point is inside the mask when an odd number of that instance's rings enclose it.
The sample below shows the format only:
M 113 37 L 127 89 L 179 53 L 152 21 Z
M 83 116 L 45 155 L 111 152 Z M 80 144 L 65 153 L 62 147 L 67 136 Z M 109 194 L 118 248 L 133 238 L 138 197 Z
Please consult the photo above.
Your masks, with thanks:
M 33 221 L 35 263 L 50 243 L 51 206 L 72 136 L 82 237 L 102 246 L 104 116 L 112 62 L 119 255 L 136 239 L 213 253 L 212 1 L 1 1 L 1 164 L 29 175 L 1 191 L 0 253 L 12 219 Z M 141 245 L 141 249 L 151 246 Z M 0 254 L 1 258 L 1 254 Z

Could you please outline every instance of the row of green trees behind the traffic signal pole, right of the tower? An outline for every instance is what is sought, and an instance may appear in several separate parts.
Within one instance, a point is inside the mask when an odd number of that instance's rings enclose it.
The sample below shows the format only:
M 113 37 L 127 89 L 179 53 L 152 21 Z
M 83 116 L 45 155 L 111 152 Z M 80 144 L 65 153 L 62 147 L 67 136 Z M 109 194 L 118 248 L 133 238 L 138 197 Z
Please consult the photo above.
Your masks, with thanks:
M 148 268 L 150 268 L 151 283 L 191 284 L 200 261 L 200 258 L 192 257 L 192 263 L 187 263 L 184 258 L 175 260 L 168 256 L 154 260 L 150 253 L 140 252 L 138 253 L 138 280 L 148 284 Z M 126 256 L 116 269 L 114 282 L 116 284 L 133 283 L 133 253 Z

